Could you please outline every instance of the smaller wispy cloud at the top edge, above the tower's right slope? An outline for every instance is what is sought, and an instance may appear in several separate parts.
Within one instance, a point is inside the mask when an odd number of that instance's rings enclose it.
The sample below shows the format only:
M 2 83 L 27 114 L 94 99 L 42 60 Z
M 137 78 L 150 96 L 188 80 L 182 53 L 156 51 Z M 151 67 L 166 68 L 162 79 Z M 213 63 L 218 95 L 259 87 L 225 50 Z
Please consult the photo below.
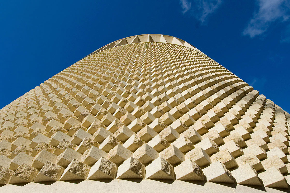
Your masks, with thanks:
M 222 0 L 180 0 L 182 13 L 190 12 L 196 19 L 205 24 L 210 14 L 213 14 L 222 4 Z M 194 6 L 191 6 L 193 3 Z

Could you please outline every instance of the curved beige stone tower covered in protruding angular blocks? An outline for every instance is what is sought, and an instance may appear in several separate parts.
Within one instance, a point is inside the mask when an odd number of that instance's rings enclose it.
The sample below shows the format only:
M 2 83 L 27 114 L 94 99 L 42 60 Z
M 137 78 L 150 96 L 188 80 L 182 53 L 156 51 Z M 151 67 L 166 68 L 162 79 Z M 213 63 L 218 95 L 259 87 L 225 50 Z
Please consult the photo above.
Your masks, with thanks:
M 131 36 L 0 110 L 0 191 L 283 192 L 289 121 L 191 44 Z

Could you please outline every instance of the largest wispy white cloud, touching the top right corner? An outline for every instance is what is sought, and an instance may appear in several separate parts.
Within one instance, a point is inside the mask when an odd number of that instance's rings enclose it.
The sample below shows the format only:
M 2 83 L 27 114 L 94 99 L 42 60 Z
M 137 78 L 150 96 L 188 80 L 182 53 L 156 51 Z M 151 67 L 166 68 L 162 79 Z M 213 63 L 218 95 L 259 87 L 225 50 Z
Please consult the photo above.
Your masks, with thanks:
M 290 0 L 256 0 L 259 8 L 243 32 L 251 38 L 267 31 L 273 22 L 289 19 Z

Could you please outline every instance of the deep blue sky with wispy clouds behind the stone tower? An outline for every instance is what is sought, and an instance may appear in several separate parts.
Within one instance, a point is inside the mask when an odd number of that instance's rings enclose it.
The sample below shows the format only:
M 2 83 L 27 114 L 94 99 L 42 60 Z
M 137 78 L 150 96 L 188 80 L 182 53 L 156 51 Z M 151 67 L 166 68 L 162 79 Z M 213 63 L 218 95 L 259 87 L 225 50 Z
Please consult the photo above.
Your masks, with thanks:
M 181 38 L 284 110 L 290 0 L 2 1 L 0 108 L 120 38 Z

